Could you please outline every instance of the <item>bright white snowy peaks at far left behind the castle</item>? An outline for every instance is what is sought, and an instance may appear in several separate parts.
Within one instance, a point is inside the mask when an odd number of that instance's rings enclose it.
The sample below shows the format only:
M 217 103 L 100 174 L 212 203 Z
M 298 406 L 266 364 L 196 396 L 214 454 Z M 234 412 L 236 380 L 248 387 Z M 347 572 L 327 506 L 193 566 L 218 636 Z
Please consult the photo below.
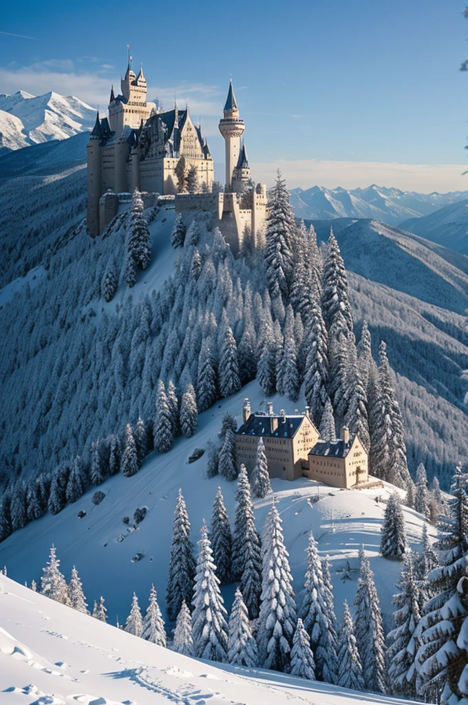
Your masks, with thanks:
M 92 128 L 96 111 L 73 96 L 25 91 L 0 94 L 0 154 Z

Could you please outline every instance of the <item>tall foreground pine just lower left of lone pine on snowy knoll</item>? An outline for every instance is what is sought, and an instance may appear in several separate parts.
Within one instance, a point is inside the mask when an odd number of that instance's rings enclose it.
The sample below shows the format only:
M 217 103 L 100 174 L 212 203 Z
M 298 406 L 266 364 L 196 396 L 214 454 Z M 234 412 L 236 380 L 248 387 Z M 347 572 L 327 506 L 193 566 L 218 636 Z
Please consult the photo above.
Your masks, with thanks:
M 374 573 L 364 548 L 359 551 L 361 566 L 355 597 L 355 634 L 367 690 L 386 692 L 385 637 Z

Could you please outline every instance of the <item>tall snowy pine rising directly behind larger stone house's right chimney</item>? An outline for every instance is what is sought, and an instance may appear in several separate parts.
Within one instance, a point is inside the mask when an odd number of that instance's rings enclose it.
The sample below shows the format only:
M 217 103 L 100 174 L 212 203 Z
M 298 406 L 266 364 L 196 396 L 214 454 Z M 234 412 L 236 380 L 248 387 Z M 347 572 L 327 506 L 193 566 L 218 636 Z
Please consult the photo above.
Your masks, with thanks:
M 319 301 L 314 299 L 309 311 L 302 345 L 305 348 L 304 394 L 318 426 L 328 400 L 328 333 Z M 333 412 L 333 410 L 332 410 Z

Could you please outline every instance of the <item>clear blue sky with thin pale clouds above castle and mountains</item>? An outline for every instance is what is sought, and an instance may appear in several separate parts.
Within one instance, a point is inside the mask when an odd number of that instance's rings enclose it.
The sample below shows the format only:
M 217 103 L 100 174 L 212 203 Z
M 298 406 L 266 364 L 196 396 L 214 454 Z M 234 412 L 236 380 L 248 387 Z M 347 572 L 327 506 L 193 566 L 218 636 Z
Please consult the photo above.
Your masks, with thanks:
M 129 43 L 149 99 L 187 98 L 215 161 L 232 73 L 255 178 L 271 181 L 279 165 L 290 187 L 466 189 L 462 9 L 455 0 L 10 2 L 1 32 L 34 39 L 0 35 L 0 92 L 56 90 L 105 109 Z

